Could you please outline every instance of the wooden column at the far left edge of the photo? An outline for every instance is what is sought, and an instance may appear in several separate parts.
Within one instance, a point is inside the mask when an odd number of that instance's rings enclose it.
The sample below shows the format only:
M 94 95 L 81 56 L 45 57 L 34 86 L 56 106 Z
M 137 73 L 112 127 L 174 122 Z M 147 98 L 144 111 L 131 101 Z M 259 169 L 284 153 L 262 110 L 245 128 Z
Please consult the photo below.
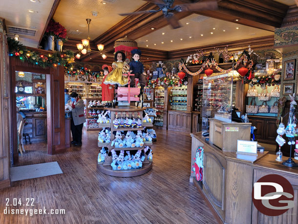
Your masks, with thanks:
M 8 46 L 4 35 L 4 19 L 0 18 L 0 189 L 10 186 L 11 149 L 11 82 L 9 78 Z

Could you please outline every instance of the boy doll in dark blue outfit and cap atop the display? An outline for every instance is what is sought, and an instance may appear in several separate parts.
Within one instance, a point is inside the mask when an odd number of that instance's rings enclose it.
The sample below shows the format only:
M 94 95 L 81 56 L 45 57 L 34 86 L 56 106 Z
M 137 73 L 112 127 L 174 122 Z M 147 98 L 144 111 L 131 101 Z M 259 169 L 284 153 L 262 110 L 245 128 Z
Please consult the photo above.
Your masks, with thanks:
M 133 49 L 131 51 L 132 61 L 129 63 L 131 76 L 130 87 L 134 87 L 134 79 L 139 79 L 141 85 L 140 94 L 142 95 L 144 87 L 146 85 L 146 73 L 144 72 L 144 65 L 140 62 L 142 52 L 139 49 Z

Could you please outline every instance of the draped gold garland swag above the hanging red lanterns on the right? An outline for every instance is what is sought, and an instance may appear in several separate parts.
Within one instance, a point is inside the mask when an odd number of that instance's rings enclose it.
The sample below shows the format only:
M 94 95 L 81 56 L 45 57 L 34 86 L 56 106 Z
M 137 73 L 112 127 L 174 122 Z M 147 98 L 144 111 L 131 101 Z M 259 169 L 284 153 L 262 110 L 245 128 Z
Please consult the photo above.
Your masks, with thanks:
M 244 65 L 246 66 L 247 61 L 248 61 L 247 56 L 246 56 L 246 55 L 242 55 L 242 56 L 240 57 L 240 59 L 239 59 L 239 60 L 236 62 L 236 64 L 234 65 L 234 69 L 235 69 L 236 67 L 238 67 L 238 66 L 240 65 L 241 62 L 243 62 Z M 184 69 L 188 74 L 194 76 L 194 75 L 198 75 L 198 74 L 200 74 L 200 73 L 204 70 L 204 68 L 205 68 L 206 66 L 207 66 L 207 67 L 215 66 L 215 68 L 216 68 L 219 72 L 223 72 L 223 73 L 228 73 L 228 72 L 232 71 L 232 67 L 229 68 L 229 69 L 222 69 L 221 67 L 219 67 L 215 59 L 212 59 L 211 62 L 210 62 L 209 59 L 208 59 L 207 61 L 205 61 L 205 62 L 202 64 L 202 67 L 201 67 L 199 70 L 197 70 L 196 72 L 191 72 L 191 71 L 186 67 L 186 65 L 184 64 L 184 62 L 180 62 L 180 63 L 179 63 L 179 71 L 182 71 L 182 69 Z

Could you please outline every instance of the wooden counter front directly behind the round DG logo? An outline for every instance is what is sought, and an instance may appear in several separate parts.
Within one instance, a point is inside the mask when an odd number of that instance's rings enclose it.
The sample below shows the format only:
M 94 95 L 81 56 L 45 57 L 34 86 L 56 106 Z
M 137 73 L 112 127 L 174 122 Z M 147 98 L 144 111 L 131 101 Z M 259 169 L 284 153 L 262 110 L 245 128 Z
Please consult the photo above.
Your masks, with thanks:
M 270 171 L 270 170 L 264 170 L 259 167 L 254 168 L 254 183 L 260 179 L 261 177 L 264 177 L 269 174 L 278 174 L 284 177 L 285 179 L 289 180 L 291 185 L 294 189 L 294 204 L 295 206 L 293 208 L 290 208 L 287 212 L 283 213 L 279 216 L 266 216 L 262 213 L 260 213 L 253 204 L 252 208 L 252 223 L 254 224 L 264 224 L 264 223 L 270 223 L 270 224 L 298 224 L 298 179 L 294 176 L 285 174 L 284 172 L 277 172 L 276 170 Z

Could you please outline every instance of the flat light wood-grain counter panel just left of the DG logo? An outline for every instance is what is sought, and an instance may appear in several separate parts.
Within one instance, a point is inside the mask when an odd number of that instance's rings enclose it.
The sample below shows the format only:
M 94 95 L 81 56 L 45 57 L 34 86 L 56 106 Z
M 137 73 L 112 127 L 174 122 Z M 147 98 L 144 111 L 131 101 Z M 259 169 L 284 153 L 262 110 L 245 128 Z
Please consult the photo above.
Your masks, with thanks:
M 227 161 L 226 223 L 251 224 L 252 210 L 247 205 L 252 204 L 252 179 L 251 165 Z

